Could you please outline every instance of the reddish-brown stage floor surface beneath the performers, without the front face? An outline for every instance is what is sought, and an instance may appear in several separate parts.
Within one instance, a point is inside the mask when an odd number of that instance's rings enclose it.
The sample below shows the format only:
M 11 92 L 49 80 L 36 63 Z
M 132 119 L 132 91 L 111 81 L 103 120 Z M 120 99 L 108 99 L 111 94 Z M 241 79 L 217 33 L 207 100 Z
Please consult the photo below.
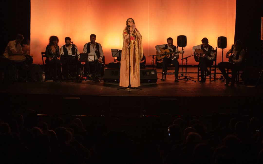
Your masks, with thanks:
M 150 68 L 149 68 L 150 69 Z M 26 94 L 66 94 L 66 95 L 107 95 L 107 96 L 255 96 L 262 95 L 262 87 L 248 87 L 239 84 L 235 87 L 224 86 L 225 81 L 209 82 L 207 76 L 205 83 L 197 81 L 196 67 L 189 67 L 187 76 L 193 81 L 185 81 L 184 77 L 174 82 L 174 75 L 166 75 L 166 80 L 157 80 L 156 83 L 141 83 L 142 90 L 120 89 L 119 83 L 104 83 L 93 81 L 62 81 L 62 82 L 13 82 L 1 84 L 0 93 L 26 93 Z M 161 68 L 156 69 L 161 72 Z M 168 70 L 174 72 L 173 70 Z M 181 68 L 180 68 L 181 72 Z M 220 72 L 219 70 L 217 72 Z M 157 73 L 158 78 L 162 74 Z M 180 73 L 179 73 L 180 75 Z M 219 77 L 221 74 L 217 74 Z M 129 92 L 130 91 L 130 92 Z

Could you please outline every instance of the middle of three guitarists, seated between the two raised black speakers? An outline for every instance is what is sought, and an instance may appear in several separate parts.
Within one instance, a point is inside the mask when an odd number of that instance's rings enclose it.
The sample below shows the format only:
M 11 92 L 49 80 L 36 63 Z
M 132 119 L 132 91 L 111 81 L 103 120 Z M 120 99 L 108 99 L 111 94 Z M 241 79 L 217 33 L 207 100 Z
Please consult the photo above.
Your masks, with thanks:
M 193 46 L 193 51 L 196 56 L 199 56 L 199 54 L 195 51 L 195 49 L 201 49 L 204 52 L 213 51 L 214 48 L 208 44 L 208 39 L 203 38 L 202 44 Z M 199 66 L 200 66 L 200 73 L 201 73 L 201 80 L 199 82 L 204 83 L 205 82 L 205 71 L 208 75 L 210 75 L 210 72 L 208 71 L 207 67 L 210 65 L 213 65 L 215 60 L 215 52 L 204 54 L 203 57 L 199 57 Z

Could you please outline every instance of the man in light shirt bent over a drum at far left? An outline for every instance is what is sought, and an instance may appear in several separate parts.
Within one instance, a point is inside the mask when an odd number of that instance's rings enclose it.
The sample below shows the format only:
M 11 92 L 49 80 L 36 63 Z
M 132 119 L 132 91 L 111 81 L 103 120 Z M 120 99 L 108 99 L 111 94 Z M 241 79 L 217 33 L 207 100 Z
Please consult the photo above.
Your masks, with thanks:
M 7 60 L 9 56 L 14 56 L 14 55 L 26 55 L 27 51 L 23 53 L 22 47 L 20 45 L 21 41 L 24 39 L 24 36 L 21 34 L 18 34 L 16 36 L 16 40 L 9 41 L 6 49 L 4 51 L 4 58 L 5 61 L 2 62 L 4 66 L 4 82 L 12 82 L 13 78 L 13 72 L 14 66 Z

